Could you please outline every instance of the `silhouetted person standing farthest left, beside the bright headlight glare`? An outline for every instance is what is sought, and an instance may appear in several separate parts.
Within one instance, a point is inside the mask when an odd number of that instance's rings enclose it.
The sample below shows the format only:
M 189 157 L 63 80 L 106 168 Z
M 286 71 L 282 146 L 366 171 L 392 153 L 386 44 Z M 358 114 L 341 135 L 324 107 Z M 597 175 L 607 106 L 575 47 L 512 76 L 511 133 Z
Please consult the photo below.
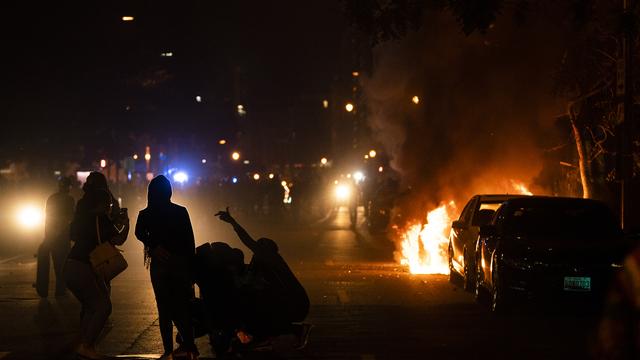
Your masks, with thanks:
M 53 269 L 56 274 L 56 296 L 63 296 L 66 285 L 62 269 L 71 249 L 69 224 L 73 220 L 75 200 L 69 191 L 71 180 L 67 177 L 58 182 L 58 192 L 47 199 L 46 219 L 44 224 L 44 247 L 51 253 Z M 48 254 L 47 254 L 48 256 Z M 49 281 L 48 279 L 43 279 Z

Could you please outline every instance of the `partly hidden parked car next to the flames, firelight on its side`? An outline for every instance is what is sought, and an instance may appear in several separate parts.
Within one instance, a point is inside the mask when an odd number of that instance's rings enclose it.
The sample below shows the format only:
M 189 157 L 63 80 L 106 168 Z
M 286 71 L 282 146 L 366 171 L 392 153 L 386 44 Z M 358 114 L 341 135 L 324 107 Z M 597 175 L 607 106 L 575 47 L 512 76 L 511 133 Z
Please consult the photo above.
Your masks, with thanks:
M 475 249 L 481 225 L 493 218 L 495 210 L 505 201 L 523 195 L 475 195 L 465 205 L 460 218 L 451 224 L 449 234 L 449 280 L 462 277 L 464 289 L 475 286 Z

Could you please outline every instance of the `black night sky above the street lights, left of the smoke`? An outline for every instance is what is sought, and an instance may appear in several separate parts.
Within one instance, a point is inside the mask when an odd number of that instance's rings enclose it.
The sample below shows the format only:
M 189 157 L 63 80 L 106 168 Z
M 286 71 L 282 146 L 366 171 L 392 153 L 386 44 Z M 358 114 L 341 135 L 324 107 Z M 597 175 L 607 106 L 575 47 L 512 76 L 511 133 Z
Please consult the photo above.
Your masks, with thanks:
M 312 132 L 351 71 L 338 1 L 21 2 L 2 13 L 4 161 L 77 157 L 78 146 L 117 157 L 141 138 L 202 146 L 233 136 L 237 104 L 250 126 Z

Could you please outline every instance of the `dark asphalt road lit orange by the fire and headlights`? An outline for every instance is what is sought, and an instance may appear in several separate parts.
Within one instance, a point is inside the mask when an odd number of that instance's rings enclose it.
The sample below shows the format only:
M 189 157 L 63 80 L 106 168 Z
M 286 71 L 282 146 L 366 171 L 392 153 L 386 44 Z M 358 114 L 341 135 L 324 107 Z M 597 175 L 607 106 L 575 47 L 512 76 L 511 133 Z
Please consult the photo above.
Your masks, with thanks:
M 216 239 L 240 246 L 225 224 L 214 226 Z M 389 241 L 368 235 L 363 226 L 349 227 L 346 209 L 310 226 L 247 229 L 278 242 L 312 301 L 308 346 L 269 356 L 573 359 L 585 358 L 593 343 L 594 316 L 561 306 L 526 306 L 496 317 L 447 276 L 409 274 L 393 261 Z M 112 284 L 113 314 L 99 350 L 157 357 L 162 345 L 141 246 L 131 237 L 126 250 L 130 267 Z M 78 303 L 71 295 L 39 299 L 31 286 L 34 276 L 31 254 L 0 260 L 0 359 L 72 358 Z M 203 358 L 215 357 L 204 338 L 198 345 Z

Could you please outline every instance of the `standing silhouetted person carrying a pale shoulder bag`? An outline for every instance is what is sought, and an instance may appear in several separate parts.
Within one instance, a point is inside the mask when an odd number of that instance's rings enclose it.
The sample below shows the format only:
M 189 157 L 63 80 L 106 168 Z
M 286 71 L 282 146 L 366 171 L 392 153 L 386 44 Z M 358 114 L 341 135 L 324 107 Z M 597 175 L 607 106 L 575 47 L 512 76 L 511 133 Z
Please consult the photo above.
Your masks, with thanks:
M 89 255 L 99 241 L 121 245 L 127 239 L 128 227 L 116 226 L 108 214 L 112 196 L 105 190 L 85 193 L 83 207 L 76 211 L 71 223 L 73 248 L 64 266 L 67 287 L 82 304 L 80 345 L 77 354 L 81 358 L 100 359 L 95 345 L 111 314 L 110 291 L 89 260 Z

